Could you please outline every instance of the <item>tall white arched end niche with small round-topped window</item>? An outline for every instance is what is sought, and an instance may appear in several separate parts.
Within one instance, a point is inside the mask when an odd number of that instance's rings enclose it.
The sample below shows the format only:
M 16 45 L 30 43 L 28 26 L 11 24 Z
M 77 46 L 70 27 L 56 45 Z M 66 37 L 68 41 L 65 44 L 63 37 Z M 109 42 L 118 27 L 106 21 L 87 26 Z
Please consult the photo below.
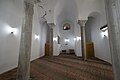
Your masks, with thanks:
M 59 0 L 56 4 L 55 12 L 54 12 L 54 22 L 56 24 L 56 33 L 54 36 L 60 36 L 60 44 L 58 47 L 58 52 L 60 53 L 62 50 L 66 50 L 68 53 L 69 49 L 75 50 L 75 40 L 78 32 L 75 32 L 78 29 L 77 20 L 79 18 L 78 15 L 78 7 L 76 2 L 73 0 Z M 69 30 L 64 30 L 63 26 L 65 24 L 70 25 Z M 56 35 L 57 34 L 57 35 Z M 68 40 L 68 42 L 66 42 Z M 57 44 L 56 44 L 57 45 Z M 79 46 L 80 49 L 80 46 Z M 75 50 L 76 51 L 76 50 Z M 80 53 L 80 52 L 78 52 Z

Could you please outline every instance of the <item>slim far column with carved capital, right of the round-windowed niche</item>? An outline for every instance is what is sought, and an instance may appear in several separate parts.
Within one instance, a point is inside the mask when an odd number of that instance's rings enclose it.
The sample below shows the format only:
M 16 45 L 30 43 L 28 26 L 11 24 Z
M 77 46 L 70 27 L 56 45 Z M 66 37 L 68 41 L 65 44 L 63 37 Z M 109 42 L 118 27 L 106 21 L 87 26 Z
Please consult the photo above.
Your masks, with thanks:
M 86 56 L 86 37 L 85 37 L 85 24 L 87 20 L 78 20 L 78 24 L 81 27 L 81 44 L 82 44 L 82 57 L 87 60 Z

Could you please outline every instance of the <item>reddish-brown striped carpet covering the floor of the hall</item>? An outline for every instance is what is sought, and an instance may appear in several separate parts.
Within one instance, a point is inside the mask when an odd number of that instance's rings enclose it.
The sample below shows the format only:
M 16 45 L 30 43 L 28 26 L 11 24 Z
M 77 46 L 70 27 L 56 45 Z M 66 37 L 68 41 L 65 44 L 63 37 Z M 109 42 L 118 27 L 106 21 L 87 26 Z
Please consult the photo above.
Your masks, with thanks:
M 16 69 L 0 75 L 15 80 Z M 83 61 L 74 55 L 42 57 L 31 62 L 32 80 L 113 80 L 112 66 L 99 59 Z

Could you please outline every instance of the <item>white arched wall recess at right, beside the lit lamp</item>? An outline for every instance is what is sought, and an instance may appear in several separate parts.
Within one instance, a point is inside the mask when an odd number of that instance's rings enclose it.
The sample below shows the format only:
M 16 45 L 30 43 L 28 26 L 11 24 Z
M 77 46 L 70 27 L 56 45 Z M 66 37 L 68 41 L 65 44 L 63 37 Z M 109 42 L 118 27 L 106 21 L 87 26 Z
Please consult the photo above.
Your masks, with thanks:
M 94 43 L 95 57 L 111 63 L 109 37 L 103 35 L 103 31 L 100 30 L 102 26 L 107 24 L 105 22 L 99 12 L 90 13 L 86 23 L 86 41 Z

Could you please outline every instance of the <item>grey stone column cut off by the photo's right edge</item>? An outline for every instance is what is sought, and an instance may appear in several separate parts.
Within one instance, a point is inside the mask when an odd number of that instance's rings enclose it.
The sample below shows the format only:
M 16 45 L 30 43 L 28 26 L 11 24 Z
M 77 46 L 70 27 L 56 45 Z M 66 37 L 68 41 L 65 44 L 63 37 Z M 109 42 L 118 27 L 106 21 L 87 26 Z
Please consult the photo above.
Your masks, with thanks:
M 112 65 L 115 80 L 120 80 L 120 0 L 105 0 Z

